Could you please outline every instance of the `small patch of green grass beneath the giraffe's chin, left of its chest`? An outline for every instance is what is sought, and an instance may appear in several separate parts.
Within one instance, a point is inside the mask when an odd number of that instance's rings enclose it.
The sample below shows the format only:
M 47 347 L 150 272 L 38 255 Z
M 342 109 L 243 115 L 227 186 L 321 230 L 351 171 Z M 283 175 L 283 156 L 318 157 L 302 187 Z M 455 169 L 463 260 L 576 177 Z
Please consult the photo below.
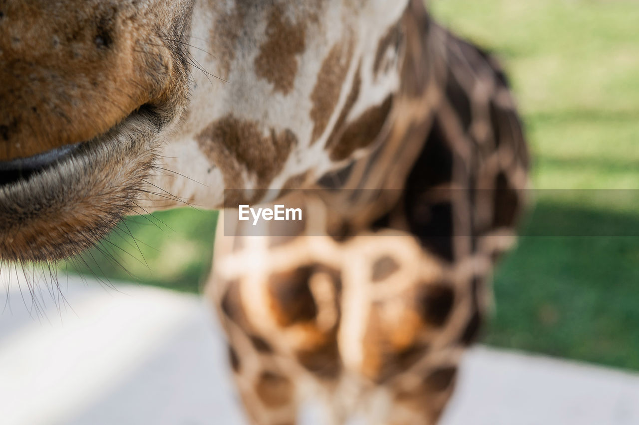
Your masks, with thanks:
M 129 217 L 68 271 L 199 292 L 211 268 L 217 211 L 179 208 Z

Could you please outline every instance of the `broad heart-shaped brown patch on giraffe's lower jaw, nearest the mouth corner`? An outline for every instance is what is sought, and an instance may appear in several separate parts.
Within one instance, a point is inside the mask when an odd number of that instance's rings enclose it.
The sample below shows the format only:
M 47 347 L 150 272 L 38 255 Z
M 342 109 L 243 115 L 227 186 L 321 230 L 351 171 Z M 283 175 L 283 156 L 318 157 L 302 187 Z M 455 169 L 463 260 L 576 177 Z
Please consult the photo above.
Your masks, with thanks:
M 263 189 L 284 167 L 297 137 L 288 129 L 271 128 L 265 135 L 258 123 L 229 115 L 205 128 L 197 142 L 222 171 L 227 189 L 243 188 L 244 172 L 255 175 L 256 188 Z

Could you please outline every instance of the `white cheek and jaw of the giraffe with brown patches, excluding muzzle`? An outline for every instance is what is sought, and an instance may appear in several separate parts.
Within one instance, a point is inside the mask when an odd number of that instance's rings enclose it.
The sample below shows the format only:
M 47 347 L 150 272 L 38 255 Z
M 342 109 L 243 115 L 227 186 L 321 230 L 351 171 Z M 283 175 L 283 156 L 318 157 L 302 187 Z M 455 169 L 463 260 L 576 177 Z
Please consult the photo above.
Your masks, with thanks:
M 397 119 L 407 3 L 199 0 L 190 105 L 162 153 L 189 179 L 153 183 L 217 208 L 225 189 L 259 202 L 365 156 Z

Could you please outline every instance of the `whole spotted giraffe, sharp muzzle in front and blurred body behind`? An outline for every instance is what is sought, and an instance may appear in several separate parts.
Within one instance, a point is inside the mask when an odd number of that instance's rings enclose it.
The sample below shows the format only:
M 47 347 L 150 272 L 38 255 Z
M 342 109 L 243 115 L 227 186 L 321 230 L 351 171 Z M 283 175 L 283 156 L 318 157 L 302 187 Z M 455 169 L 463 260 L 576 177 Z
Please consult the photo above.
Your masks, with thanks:
M 184 202 L 299 206 L 217 232 L 249 420 L 315 397 L 327 423 L 436 423 L 527 184 L 493 57 L 420 0 L 4 0 L 0 80 L 0 260 Z

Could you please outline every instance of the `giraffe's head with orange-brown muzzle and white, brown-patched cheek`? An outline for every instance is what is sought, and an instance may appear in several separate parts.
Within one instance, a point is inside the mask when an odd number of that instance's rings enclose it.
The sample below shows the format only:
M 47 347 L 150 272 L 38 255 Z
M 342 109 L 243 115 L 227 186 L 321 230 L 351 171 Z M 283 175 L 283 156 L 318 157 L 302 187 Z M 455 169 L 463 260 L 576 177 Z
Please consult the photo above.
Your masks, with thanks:
M 0 260 L 339 167 L 390 113 L 406 3 L 0 0 Z

